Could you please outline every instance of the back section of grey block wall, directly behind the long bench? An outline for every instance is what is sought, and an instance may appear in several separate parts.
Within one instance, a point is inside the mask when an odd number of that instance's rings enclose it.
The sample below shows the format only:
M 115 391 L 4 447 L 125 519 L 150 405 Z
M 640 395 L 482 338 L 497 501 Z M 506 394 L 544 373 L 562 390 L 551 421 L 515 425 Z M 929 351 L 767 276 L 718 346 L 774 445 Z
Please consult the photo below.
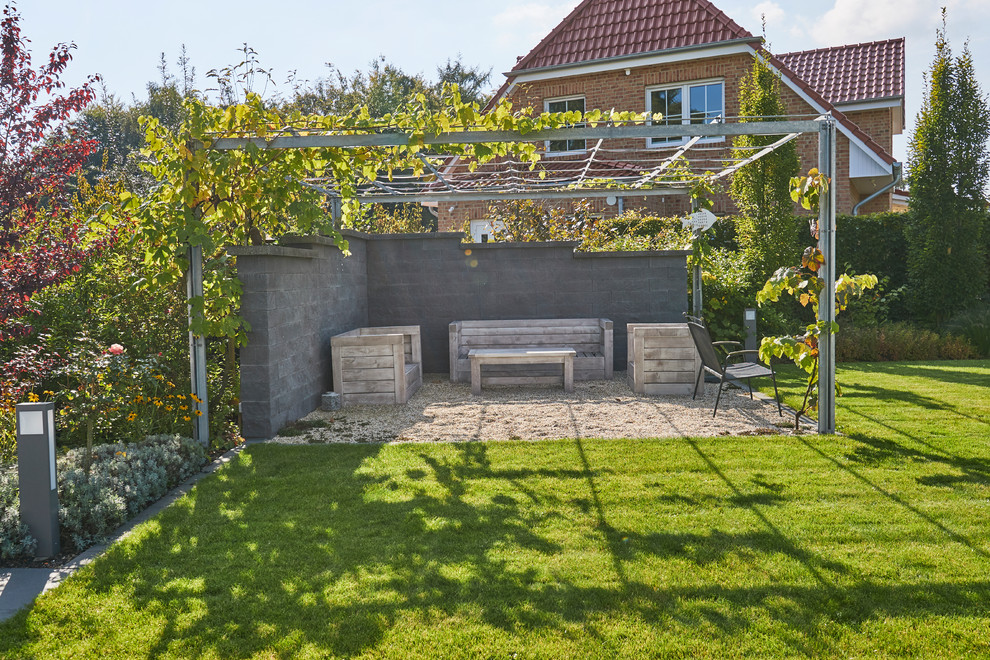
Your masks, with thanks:
M 626 323 L 683 321 L 687 253 L 582 254 L 574 246 L 464 244 L 460 234 L 373 237 L 369 321 L 419 325 L 424 371 L 443 373 L 452 321 L 604 317 L 615 323 L 615 369 L 624 369 Z

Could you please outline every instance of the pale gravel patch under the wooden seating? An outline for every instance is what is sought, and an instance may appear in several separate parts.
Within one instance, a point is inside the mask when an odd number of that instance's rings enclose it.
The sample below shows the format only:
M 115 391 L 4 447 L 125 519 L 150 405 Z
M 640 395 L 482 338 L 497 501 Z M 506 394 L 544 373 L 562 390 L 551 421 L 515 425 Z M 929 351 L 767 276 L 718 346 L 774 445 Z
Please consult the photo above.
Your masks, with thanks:
M 639 396 L 625 372 L 611 381 L 575 382 L 560 387 L 486 387 L 471 395 L 468 383 L 427 374 L 423 387 L 404 406 L 349 406 L 317 410 L 282 429 L 273 442 L 451 442 L 542 440 L 551 438 L 657 438 L 764 435 L 789 427 L 793 417 L 777 415 L 772 400 L 751 401 L 738 389 L 722 394 L 712 419 L 717 386 L 705 396 Z

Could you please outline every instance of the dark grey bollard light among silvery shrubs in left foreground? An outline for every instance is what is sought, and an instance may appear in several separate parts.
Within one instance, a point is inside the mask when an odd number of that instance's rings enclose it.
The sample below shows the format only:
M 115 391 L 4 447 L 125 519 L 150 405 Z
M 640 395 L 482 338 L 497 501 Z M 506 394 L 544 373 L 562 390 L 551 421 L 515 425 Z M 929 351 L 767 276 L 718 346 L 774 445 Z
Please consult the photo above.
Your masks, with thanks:
M 61 551 L 58 527 L 58 478 L 55 473 L 55 404 L 18 403 L 17 480 L 21 520 L 38 540 L 35 554 Z

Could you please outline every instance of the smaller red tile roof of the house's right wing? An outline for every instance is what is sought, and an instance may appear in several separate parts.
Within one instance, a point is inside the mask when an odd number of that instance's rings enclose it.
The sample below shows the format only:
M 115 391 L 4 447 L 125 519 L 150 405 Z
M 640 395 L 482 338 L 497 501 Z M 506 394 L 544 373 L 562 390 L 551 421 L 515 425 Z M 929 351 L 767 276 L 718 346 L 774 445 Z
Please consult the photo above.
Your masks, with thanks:
M 903 37 L 777 57 L 832 103 L 904 95 Z

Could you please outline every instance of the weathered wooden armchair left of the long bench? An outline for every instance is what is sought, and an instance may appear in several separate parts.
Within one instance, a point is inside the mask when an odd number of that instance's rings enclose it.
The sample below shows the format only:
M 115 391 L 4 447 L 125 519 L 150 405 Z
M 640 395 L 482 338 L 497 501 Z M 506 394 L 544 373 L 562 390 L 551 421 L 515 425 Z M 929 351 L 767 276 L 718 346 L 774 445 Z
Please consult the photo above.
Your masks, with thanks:
M 358 328 L 330 339 L 341 405 L 405 403 L 423 384 L 418 325 Z

